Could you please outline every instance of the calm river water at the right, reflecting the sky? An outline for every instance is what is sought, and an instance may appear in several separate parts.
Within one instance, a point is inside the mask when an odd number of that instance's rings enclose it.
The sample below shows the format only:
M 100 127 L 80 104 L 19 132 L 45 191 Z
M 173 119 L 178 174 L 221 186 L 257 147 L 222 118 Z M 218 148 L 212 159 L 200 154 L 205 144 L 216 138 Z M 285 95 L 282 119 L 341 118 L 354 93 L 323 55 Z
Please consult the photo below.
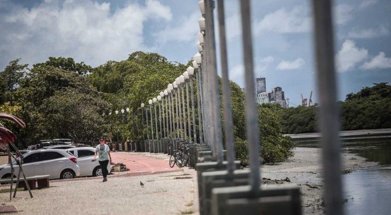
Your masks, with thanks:
M 301 142 L 297 147 L 315 147 Z M 344 209 L 347 215 L 389 215 L 391 213 L 391 137 L 342 140 L 342 150 L 358 154 L 379 166 L 342 175 Z

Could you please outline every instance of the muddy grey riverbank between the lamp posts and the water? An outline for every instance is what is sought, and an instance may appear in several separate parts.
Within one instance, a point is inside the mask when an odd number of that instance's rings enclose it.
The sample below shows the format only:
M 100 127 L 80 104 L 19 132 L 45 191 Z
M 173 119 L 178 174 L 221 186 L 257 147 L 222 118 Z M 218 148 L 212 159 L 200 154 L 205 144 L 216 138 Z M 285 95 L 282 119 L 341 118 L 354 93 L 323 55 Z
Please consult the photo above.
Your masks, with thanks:
M 261 177 L 263 183 L 266 185 L 288 183 L 299 185 L 301 187 L 304 214 L 323 214 L 323 178 L 320 159 L 321 149 L 296 148 L 294 149 L 294 156 L 287 162 L 262 166 Z M 357 170 L 372 169 L 377 166 L 377 163 L 367 162 L 365 158 L 358 155 L 342 153 L 344 174 Z

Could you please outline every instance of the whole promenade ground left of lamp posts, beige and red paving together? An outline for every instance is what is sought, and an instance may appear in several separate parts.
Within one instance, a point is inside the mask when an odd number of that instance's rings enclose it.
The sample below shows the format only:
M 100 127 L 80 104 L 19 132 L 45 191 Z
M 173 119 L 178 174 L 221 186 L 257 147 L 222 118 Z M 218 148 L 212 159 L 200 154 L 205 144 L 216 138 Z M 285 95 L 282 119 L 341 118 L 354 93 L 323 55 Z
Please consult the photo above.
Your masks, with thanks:
M 108 177 L 108 182 L 102 182 L 100 177 L 58 180 L 50 183 L 49 188 L 33 190 L 34 198 L 29 197 L 28 191 L 19 191 L 9 201 L 9 193 L 1 193 L 0 202 L 5 205 L 0 207 L 15 205 L 20 214 L 196 213 L 194 169 L 170 168 L 164 160 L 168 156 L 163 154 L 115 152 L 112 157 L 113 162 L 129 165 L 131 171 Z

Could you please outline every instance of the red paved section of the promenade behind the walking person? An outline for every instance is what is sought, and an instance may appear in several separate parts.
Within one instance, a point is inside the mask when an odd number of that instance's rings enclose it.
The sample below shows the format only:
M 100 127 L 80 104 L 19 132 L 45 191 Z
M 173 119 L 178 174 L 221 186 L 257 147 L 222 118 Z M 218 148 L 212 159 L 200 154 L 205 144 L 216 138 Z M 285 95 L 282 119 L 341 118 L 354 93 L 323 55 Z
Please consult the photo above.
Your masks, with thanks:
M 176 172 L 180 168 L 171 168 L 167 161 L 147 156 L 111 152 L 113 163 L 123 163 L 130 171 L 122 176 L 149 175 L 164 172 Z

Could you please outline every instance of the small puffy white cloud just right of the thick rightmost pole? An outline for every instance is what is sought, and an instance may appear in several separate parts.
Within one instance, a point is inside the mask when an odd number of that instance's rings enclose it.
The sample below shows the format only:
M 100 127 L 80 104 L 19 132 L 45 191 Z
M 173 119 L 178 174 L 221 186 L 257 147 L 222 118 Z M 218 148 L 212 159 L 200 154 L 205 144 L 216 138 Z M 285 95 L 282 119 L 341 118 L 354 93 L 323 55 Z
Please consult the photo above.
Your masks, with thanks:
M 367 56 L 368 50 L 357 48 L 353 40 L 345 40 L 336 55 L 337 70 L 339 72 L 349 71 L 355 68 L 359 62 L 365 60 Z

